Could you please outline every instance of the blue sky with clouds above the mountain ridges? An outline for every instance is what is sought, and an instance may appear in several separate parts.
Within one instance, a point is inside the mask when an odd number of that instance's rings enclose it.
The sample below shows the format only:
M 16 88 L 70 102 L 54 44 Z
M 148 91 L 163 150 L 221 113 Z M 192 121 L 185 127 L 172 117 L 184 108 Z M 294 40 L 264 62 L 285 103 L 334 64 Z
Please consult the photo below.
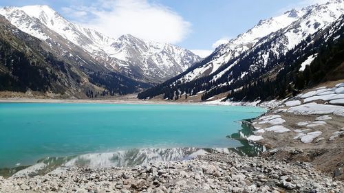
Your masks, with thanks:
M 69 21 L 118 38 L 131 34 L 207 56 L 261 19 L 326 0 L 0 0 L 0 6 L 49 5 Z

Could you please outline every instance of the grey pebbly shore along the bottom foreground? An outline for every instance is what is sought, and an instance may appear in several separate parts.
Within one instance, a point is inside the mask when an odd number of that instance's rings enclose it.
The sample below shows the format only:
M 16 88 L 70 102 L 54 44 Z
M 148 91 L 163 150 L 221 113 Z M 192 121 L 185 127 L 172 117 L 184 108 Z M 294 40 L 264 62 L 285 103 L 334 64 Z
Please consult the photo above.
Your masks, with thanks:
M 343 192 L 310 163 L 235 152 L 133 168 L 61 168 L 45 176 L 0 178 L 0 192 Z

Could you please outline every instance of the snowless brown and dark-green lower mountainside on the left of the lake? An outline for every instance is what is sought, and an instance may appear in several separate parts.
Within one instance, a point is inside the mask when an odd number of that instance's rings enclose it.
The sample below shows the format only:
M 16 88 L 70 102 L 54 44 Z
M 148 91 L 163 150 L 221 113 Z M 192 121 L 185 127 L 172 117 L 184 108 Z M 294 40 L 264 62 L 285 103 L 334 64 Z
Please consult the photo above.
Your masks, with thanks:
M 150 87 L 108 71 L 94 60 L 69 60 L 56 47 L 21 32 L 0 16 L 0 91 L 51 92 L 63 97 L 94 98 Z

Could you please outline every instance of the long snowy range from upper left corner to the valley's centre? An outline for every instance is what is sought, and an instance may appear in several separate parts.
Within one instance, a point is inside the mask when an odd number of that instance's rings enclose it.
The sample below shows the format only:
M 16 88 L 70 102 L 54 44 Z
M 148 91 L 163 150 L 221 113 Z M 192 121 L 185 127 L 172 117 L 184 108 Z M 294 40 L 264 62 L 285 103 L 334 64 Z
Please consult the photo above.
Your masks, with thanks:
M 116 40 L 67 21 L 47 5 L 6 7 L 0 9 L 0 14 L 23 32 L 43 41 L 54 42 L 58 34 L 67 43 L 84 49 L 109 70 L 120 71 L 137 80 L 162 82 L 201 59 L 189 50 L 167 43 L 151 43 L 131 35 Z

